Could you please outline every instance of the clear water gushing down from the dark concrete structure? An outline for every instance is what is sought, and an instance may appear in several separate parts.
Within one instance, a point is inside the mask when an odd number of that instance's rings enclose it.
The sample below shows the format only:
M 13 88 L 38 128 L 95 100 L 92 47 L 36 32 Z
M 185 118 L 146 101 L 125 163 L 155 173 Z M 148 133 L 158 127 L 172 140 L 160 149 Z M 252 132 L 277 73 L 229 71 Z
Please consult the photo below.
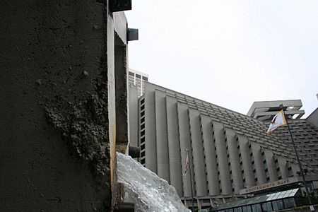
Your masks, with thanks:
M 117 180 L 124 184 L 136 211 L 189 211 L 165 179 L 122 153 L 117 153 Z

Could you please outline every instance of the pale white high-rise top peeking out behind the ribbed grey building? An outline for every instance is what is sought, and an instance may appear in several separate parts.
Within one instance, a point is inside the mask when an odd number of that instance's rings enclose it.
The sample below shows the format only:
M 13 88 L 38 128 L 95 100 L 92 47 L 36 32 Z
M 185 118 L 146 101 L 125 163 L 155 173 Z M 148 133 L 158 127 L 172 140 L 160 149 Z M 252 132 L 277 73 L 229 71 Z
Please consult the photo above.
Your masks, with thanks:
M 129 69 L 128 84 L 129 86 L 136 86 L 138 98 L 145 92 L 146 81 L 148 81 L 148 74 Z

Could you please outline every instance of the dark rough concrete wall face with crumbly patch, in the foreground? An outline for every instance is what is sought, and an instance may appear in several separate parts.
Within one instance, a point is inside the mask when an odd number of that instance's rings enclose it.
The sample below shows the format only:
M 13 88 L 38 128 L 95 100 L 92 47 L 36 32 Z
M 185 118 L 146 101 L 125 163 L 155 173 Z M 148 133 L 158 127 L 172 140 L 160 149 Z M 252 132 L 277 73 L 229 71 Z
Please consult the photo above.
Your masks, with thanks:
M 0 2 L 1 211 L 108 211 L 107 8 Z

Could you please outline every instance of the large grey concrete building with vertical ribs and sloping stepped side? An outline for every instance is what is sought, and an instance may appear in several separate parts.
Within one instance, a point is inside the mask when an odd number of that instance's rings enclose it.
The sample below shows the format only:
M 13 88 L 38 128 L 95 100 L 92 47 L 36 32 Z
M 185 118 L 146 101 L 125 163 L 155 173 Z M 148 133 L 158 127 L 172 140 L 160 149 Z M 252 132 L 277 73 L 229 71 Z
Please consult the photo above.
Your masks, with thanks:
M 189 172 L 182 176 L 186 148 L 199 208 L 242 198 L 242 189 L 288 179 L 298 171 L 285 129 L 267 135 L 268 124 L 259 119 L 152 83 L 146 83 L 138 107 L 141 164 L 172 184 L 186 206 L 192 196 Z M 318 128 L 305 120 L 293 120 L 291 127 L 295 134 L 307 134 L 296 143 L 305 163 L 303 147 L 312 145 L 312 163 L 303 166 L 317 174 Z

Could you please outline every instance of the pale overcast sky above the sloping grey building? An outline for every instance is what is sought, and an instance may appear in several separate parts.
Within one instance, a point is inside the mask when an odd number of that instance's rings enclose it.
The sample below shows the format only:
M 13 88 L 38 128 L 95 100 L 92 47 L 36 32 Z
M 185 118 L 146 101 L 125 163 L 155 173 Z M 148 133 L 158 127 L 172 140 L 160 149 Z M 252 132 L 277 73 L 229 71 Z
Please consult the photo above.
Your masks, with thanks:
M 247 114 L 254 101 L 318 106 L 318 1 L 132 0 L 129 67 Z

